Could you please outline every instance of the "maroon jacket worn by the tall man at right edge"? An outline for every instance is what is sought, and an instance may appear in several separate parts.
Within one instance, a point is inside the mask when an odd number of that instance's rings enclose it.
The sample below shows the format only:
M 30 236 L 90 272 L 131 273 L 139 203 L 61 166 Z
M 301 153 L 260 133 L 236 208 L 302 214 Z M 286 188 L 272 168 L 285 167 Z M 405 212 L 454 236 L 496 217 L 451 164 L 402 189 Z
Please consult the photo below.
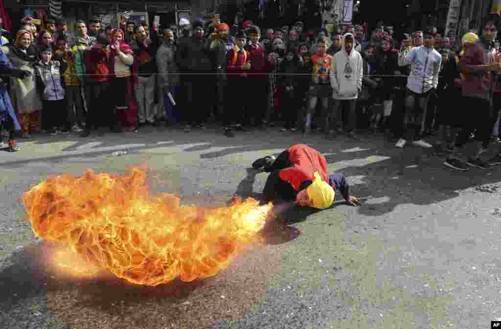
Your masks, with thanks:
M 462 95 L 490 100 L 493 91 L 493 72 L 486 71 L 479 65 L 486 65 L 492 62 L 496 53 L 491 44 L 478 40 L 474 45 L 469 46 L 461 56 L 459 70 L 463 73 Z

